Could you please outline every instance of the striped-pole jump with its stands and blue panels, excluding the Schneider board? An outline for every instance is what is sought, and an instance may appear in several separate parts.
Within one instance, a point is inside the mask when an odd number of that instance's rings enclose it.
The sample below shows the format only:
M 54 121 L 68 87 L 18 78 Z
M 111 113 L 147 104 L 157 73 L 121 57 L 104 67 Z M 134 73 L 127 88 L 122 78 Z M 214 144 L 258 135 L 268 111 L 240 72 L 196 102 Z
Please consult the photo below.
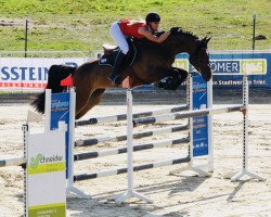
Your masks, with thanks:
M 146 202 L 151 202 L 151 200 L 142 194 L 139 194 L 136 192 L 132 188 L 133 186 L 133 178 L 132 173 L 138 170 L 144 170 L 144 169 L 151 169 L 155 167 L 160 166 L 168 166 L 173 164 L 180 164 L 180 163 L 188 163 L 188 167 L 177 169 L 172 173 L 179 173 L 181 170 L 194 170 L 198 173 L 199 176 L 209 176 L 209 173 L 214 170 L 214 148 L 212 148 L 212 120 L 211 115 L 215 114 L 222 114 L 222 113 L 231 113 L 231 112 L 242 112 L 244 115 L 244 124 L 243 124 L 243 168 L 240 173 L 234 175 L 232 177 L 232 181 L 240 180 L 243 176 L 247 175 L 251 178 L 256 178 L 259 180 L 264 180 L 262 177 L 250 173 L 247 169 L 247 154 L 248 154 L 248 146 L 247 146 L 247 108 L 248 108 L 248 84 L 247 84 L 247 76 L 243 76 L 243 104 L 238 106 L 228 106 L 228 107 L 220 107 L 220 108 L 212 108 L 212 90 L 211 90 L 211 82 L 208 82 L 208 86 L 206 82 L 201 80 L 199 76 L 193 76 L 190 78 L 189 81 L 189 107 L 190 111 L 185 112 L 176 112 L 173 111 L 170 114 L 160 114 L 156 116 L 151 117 L 140 117 L 140 114 L 136 114 L 137 118 L 132 115 L 132 90 L 127 89 L 127 114 L 125 115 L 118 115 L 118 116 L 106 116 L 106 117 L 100 117 L 100 118 L 91 118 L 88 120 L 78 120 L 75 122 L 75 91 L 73 88 L 69 88 L 69 97 L 66 99 L 66 101 L 61 101 L 59 99 L 59 95 L 62 93 L 52 94 L 52 100 L 50 97 L 50 90 L 47 90 L 47 114 L 50 113 L 50 115 L 47 116 L 47 127 L 48 129 L 53 129 L 54 123 L 63 120 L 68 125 L 67 130 L 67 144 L 66 144 L 66 178 L 67 178 L 67 192 L 72 192 L 81 196 L 87 196 L 82 191 L 74 187 L 75 181 L 81 181 L 87 179 L 94 179 L 99 177 L 105 177 L 111 175 L 118 175 L 118 174 L 125 174 L 128 173 L 128 190 L 120 194 L 119 197 L 116 199 L 118 203 L 124 202 L 126 199 L 130 196 L 136 196 L 141 200 L 144 200 Z M 51 101 L 51 102 L 50 102 Z M 54 115 L 53 107 L 61 106 L 61 107 L 67 107 L 63 108 L 66 114 L 67 112 L 69 115 Z M 182 106 L 185 107 L 185 106 Z M 177 108 L 177 110 L 180 110 Z M 51 111 L 51 112 L 49 112 Z M 164 111 L 164 112 L 169 112 Z M 142 113 L 145 115 L 145 113 Z M 149 113 L 149 114 L 155 114 Z M 64 120 L 63 117 L 66 116 L 68 119 Z M 100 139 L 89 139 L 89 140 L 79 140 L 77 142 L 74 141 L 74 130 L 75 126 L 83 126 L 83 125 L 95 125 L 99 123 L 106 123 L 106 122 L 116 122 L 119 119 L 127 118 L 127 135 L 121 137 L 106 137 L 106 138 L 100 138 Z M 133 126 L 136 125 L 144 125 L 144 124 L 153 124 L 157 122 L 165 122 L 165 120 L 172 120 L 172 119 L 182 119 L 182 118 L 189 118 L 189 129 L 190 129 L 190 137 L 189 138 L 180 138 L 173 141 L 166 141 L 166 142 L 156 142 L 156 143 L 149 143 L 149 144 L 140 144 L 140 145 L 133 145 L 133 138 L 137 137 L 146 137 L 146 135 L 153 133 L 153 131 L 149 132 L 142 132 L 142 133 L 132 133 Z M 201 128 L 198 130 L 198 126 L 204 126 L 204 128 Z M 185 126 L 179 126 L 179 129 L 183 129 Z M 165 132 L 167 130 L 172 130 L 172 128 L 167 128 L 166 130 L 160 130 L 159 132 Z M 199 131 L 199 132 L 198 132 Z M 203 132 L 204 131 L 204 132 Z M 104 150 L 100 152 L 89 152 L 89 153 L 81 153 L 81 154 L 74 154 L 74 145 L 93 145 L 101 141 L 109 141 L 109 140 L 117 140 L 122 141 L 127 139 L 127 148 L 120 148 L 120 149 L 112 149 L 112 150 Z M 137 165 L 133 166 L 133 156 L 132 153 L 134 151 L 142 151 L 146 149 L 154 149 L 156 146 L 164 146 L 170 142 L 170 144 L 175 143 L 183 143 L 183 142 L 190 141 L 190 149 L 189 149 L 189 155 L 184 156 L 182 158 L 175 158 L 169 161 L 160 161 L 155 162 L 152 164 L 146 165 Z M 86 158 L 95 158 L 106 155 L 113 155 L 113 154 L 122 154 L 128 153 L 128 166 L 121 167 L 117 169 L 106 169 L 106 170 L 100 170 L 96 173 L 90 173 L 90 174 L 81 174 L 81 175 L 75 175 L 74 176 L 74 162 L 75 161 L 82 161 Z M 205 165 L 195 165 L 194 159 L 196 156 L 207 156 L 208 162 Z M 207 170 L 206 170 L 207 168 Z

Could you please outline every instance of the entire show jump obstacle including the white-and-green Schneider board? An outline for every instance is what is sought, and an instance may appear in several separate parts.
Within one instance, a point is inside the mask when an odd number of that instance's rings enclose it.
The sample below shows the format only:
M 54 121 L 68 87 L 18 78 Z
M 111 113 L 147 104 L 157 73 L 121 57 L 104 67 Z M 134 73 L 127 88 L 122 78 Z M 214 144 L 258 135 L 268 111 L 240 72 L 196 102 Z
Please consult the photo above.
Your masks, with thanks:
M 212 108 L 212 87 L 210 84 L 211 81 L 208 82 L 208 85 L 203 82 L 199 76 L 190 76 L 186 85 L 189 105 L 138 114 L 132 114 L 132 89 L 127 87 L 127 114 L 79 122 L 75 122 L 76 98 L 73 88 L 68 88 L 68 92 L 54 94 L 51 94 L 51 91 L 47 90 L 46 132 L 30 135 L 28 124 L 24 125 L 24 156 L 12 159 L 0 159 L 0 167 L 17 165 L 24 166 L 25 168 L 25 216 L 49 215 L 51 213 L 57 214 L 56 216 L 60 217 L 65 216 L 66 192 L 72 192 L 80 196 L 88 196 L 81 190 L 74 187 L 75 181 L 128 173 L 128 189 L 126 192 L 115 197 L 116 202 L 122 203 L 129 197 L 138 197 L 151 203 L 151 199 L 133 190 L 133 171 L 188 163 L 188 167 L 173 170 L 171 174 L 190 169 L 198 173 L 199 176 L 209 176 L 209 173 L 214 170 L 211 116 L 221 113 L 243 113 L 243 166 L 241 171 L 231 177 L 231 180 L 236 181 L 244 176 L 249 176 L 258 180 L 266 180 L 248 170 L 247 75 L 243 76 L 243 104 L 240 106 Z M 190 111 L 183 112 L 183 110 L 188 107 Z M 133 133 L 133 127 L 138 125 L 182 118 L 189 118 L 189 124 Z M 125 136 L 74 141 L 75 126 L 78 127 L 124 119 L 127 119 L 127 135 Z M 175 140 L 138 145 L 133 144 L 133 139 L 159 133 L 171 133 L 186 130 L 188 128 L 190 130 L 188 138 L 178 138 Z M 74 154 L 74 146 L 76 145 L 94 145 L 104 141 L 124 140 L 127 140 L 127 148 Z M 185 142 L 190 143 L 188 156 L 133 166 L 133 152 Z M 127 167 L 74 176 L 75 161 L 122 153 L 127 153 L 128 156 Z M 197 156 L 207 156 L 207 164 L 196 165 L 194 159 Z M 54 180 L 57 181 L 55 182 Z

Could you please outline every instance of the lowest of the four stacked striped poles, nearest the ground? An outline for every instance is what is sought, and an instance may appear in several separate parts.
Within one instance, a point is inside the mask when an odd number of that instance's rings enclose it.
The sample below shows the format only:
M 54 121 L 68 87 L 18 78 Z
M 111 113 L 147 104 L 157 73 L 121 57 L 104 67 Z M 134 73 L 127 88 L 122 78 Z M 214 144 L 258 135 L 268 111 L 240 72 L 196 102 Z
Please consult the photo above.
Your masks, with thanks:
M 190 156 L 186 156 L 184 158 L 159 161 L 159 162 L 154 162 L 151 164 L 142 164 L 142 165 L 134 166 L 133 171 L 140 171 L 140 170 L 158 168 L 163 166 L 170 166 L 170 165 L 189 163 L 189 162 L 190 162 Z M 120 168 L 115 168 L 115 169 L 104 169 L 104 170 L 100 170 L 100 171 L 91 173 L 91 174 L 76 175 L 74 176 L 74 181 L 95 179 L 100 177 L 107 177 L 107 176 L 120 175 L 120 174 L 126 174 L 126 173 L 127 173 L 127 167 L 120 167 Z

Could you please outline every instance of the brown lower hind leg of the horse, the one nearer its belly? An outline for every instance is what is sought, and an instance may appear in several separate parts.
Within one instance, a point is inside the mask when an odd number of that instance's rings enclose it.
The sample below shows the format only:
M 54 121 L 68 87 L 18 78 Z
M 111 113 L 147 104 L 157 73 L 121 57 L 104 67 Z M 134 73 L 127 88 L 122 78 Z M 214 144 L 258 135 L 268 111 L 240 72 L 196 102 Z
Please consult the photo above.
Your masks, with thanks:
M 79 113 L 76 114 L 76 119 L 82 117 L 87 112 L 89 112 L 93 106 L 99 104 L 103 98 L 105 89 L 96 89 L 93 91 L 93 93 L 90 95 L 88 103 L 85 105 L 82 110 L 80 110 Z

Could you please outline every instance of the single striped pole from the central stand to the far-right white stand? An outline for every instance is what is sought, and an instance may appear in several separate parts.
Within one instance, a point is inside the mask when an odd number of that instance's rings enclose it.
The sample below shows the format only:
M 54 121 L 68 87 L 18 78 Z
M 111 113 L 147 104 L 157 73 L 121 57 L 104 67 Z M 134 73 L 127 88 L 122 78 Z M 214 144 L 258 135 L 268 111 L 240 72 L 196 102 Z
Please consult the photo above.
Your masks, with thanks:
M 182 118 L 188 118 L 188 117 L 201 117 L 201 116 L 215 115 L 215 114 L 221 114 L 221 113 L 243 112 L 244 108 L 245 107 L 243 105 L 238 105 L 238 106 L 229 106 L 229 107 L 219 107 L 219 108 L 188 111 L 188 112 L 158 115 L 158 116 L 146 117 L 146 118 L 138 118 L 138 119 L 133 119 L 133 124 L 136 126 L 149 125 L 149 124 L 154 124 L 158 122 L 182 119 Z

